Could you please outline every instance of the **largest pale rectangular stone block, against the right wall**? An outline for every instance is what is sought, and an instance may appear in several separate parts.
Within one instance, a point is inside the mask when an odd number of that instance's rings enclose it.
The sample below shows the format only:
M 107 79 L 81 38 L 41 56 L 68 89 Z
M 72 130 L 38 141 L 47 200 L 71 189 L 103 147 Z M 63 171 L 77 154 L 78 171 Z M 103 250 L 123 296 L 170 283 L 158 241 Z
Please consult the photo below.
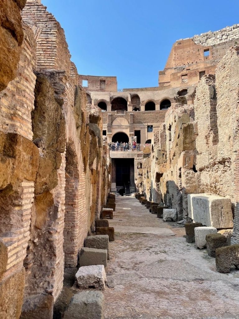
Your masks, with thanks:
M 192 216 L 195 222 L 205 226 L 233 227 L 230 198 L 207 194 L 192 196 Z

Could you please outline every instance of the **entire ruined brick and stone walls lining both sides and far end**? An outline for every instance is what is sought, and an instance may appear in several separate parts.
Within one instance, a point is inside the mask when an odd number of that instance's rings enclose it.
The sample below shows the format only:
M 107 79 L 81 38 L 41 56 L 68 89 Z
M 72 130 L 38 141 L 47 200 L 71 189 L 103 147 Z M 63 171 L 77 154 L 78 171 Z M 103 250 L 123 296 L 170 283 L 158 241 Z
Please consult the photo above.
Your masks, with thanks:
M 129 191 L 178 221 L 190 194 L 229 199 L 239 242 L 238 30 L 176 41 L 158 87 L 117 92 L 115 77 L 78 75 L 40 0 L 0 0 L 0 318 L 52 318 L 124 160 Z M 138 148 L 116 152 L 118 133 Z

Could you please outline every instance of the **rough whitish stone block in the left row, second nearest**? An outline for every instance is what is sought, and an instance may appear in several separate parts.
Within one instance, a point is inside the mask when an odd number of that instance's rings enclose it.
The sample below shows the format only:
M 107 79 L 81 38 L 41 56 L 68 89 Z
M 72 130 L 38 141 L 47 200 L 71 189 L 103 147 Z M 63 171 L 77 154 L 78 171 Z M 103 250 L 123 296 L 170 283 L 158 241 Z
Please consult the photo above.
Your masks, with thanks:
M 80 267 L 76 272 L 77 285 L 80 288 L 105 289 L 106 274 L 104 265 L 92 265 Z

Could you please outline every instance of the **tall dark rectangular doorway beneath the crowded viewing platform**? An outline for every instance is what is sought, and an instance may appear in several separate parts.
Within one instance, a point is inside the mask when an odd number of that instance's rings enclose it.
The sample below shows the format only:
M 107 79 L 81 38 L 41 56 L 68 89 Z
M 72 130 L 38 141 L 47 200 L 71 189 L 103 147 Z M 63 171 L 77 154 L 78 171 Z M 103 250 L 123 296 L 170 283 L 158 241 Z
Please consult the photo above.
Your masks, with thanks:
M 134 187 L 134 159 L 115 159 L 116 187 Z

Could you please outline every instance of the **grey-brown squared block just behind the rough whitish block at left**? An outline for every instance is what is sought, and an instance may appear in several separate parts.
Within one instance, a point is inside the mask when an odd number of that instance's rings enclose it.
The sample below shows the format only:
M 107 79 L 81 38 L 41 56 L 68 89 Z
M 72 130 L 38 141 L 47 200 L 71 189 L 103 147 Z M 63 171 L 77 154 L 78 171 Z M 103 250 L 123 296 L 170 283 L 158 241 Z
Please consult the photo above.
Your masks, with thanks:
M 107 267 L 107 249 L 83 247 L 80 251 L 80 267 L 91 265 L 104 265 Z

